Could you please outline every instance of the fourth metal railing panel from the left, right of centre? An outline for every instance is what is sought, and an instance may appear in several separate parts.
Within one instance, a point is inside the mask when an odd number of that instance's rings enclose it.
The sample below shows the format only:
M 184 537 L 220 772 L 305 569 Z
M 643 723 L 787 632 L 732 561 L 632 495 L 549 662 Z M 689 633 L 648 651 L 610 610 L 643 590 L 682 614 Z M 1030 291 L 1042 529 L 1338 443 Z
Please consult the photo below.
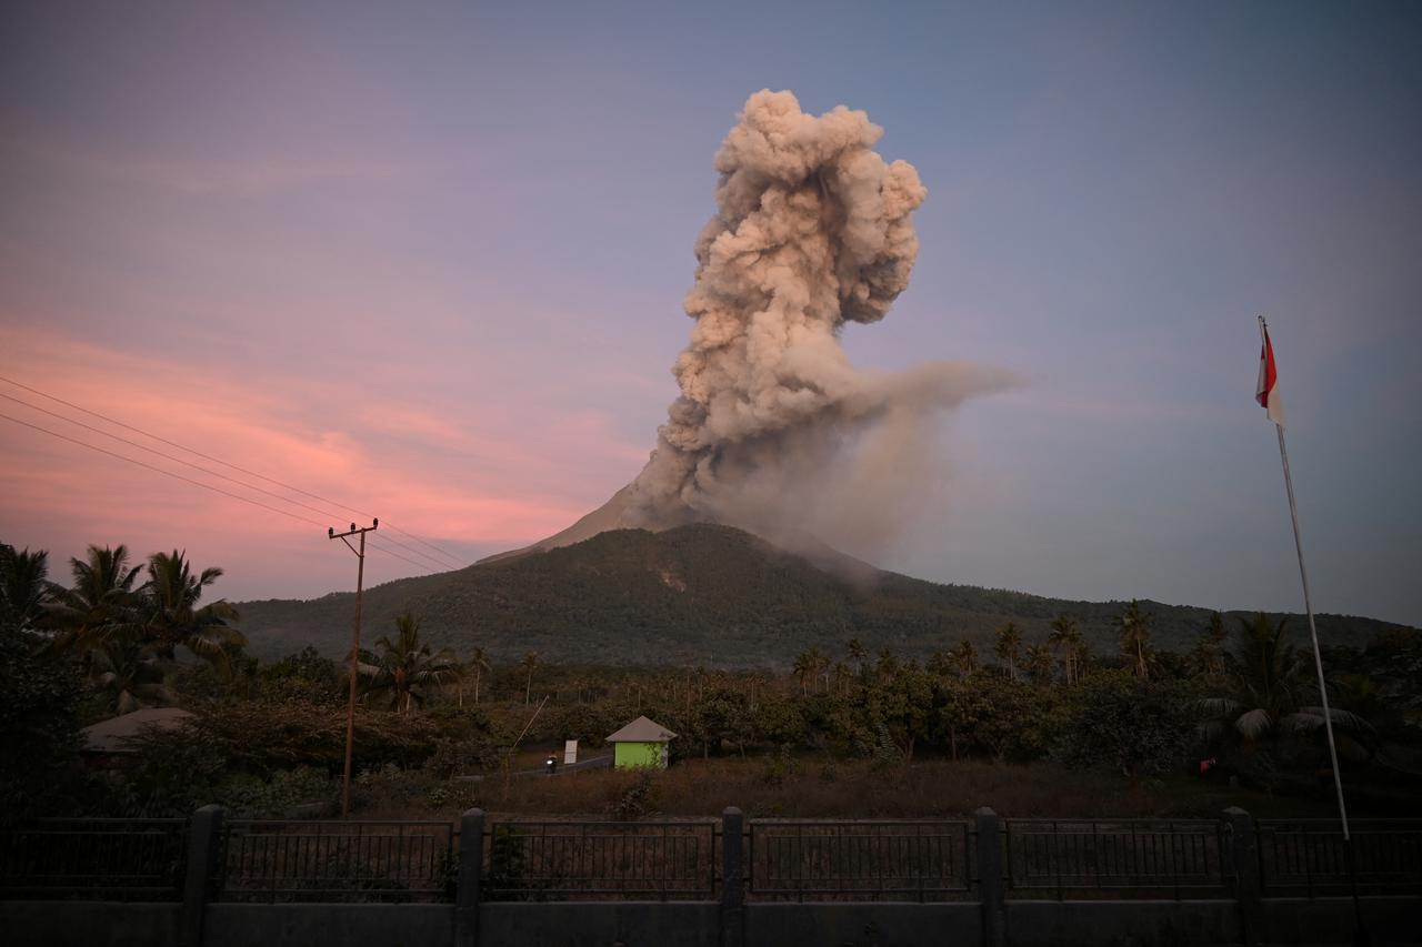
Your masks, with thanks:
M 748 835 L 754 900 L 953 900 L 973 882 L 968 822 L 752 819 Z

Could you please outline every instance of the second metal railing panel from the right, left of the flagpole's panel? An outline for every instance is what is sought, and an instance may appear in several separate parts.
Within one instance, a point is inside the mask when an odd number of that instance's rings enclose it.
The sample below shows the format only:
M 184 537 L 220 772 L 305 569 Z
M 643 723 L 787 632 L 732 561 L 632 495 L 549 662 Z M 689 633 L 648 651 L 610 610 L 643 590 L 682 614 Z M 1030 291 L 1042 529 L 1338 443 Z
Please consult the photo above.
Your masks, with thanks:
M 1213 819 L 1005 819 L 1008 896 L 1224 897 L 1229 857 Z

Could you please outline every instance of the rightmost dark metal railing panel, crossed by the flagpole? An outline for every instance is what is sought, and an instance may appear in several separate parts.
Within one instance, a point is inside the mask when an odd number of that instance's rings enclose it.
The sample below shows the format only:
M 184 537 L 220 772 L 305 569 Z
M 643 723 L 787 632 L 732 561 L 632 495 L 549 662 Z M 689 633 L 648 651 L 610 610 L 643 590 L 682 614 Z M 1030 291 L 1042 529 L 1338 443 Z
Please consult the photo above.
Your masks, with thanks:
M 1314 897 L 1352 889 L 1337 819 L 1258 819 L 1258 872 L 1268 896 Z M 1422 819 L 1352 819 L 1358 886 L 1422 893 Z

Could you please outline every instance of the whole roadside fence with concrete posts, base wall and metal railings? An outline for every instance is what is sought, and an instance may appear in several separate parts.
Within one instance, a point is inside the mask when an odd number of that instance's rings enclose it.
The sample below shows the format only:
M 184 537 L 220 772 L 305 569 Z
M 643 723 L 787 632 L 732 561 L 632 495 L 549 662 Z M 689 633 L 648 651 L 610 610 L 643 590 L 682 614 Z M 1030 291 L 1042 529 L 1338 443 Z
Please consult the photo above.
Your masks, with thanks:
M 100 822 L 100 820 L 92 820 Z M 1422 822 L 162 820 L 0 829 L 7 944 L 1422 943 Z M 176 836 L 182 838 L 182 836 Z M 115 852 L 122 855 L 114 855 Z M 166 887 L 165 882 L 166 879 Z M 1357 900 L 1354 884 L 1361 884 Z M 144 900 L 104 900 L 125 892 Z M 166 893 L 166 897 L 155 896 Z

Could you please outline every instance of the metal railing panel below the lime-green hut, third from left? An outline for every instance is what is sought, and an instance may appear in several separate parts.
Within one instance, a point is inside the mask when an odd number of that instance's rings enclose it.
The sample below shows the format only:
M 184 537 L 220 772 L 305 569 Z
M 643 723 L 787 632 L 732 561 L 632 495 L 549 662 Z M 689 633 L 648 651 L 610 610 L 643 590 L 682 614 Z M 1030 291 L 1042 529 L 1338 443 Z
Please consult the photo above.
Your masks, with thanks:
M 711 900 L 720 826 L 678 822 L 491 825 L 482 890 L 491 900 Z

